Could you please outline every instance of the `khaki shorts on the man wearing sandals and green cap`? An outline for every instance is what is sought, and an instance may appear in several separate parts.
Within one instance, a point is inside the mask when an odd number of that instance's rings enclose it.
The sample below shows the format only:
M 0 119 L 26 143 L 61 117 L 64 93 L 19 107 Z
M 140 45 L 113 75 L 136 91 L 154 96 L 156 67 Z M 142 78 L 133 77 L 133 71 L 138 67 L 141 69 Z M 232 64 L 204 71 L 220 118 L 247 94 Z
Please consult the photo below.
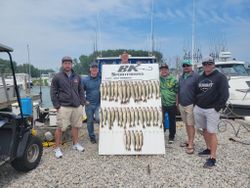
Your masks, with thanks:
M 194 105 L 182 106 L 179 104 L 181 119 L 186 125 L 194 126 Z

